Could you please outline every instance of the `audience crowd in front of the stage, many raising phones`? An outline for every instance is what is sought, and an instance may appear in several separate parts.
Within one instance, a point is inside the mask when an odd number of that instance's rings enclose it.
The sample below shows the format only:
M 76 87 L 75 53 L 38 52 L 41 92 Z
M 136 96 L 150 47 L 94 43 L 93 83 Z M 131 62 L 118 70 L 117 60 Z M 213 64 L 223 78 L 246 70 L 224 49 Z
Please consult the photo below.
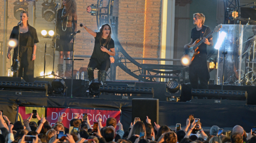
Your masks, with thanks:
M 218 126 L 212 126 L 209 135 L 201 127 L 201 123 L 195 123 L 195 119 L 187 119 L 184 130 L 171 130 L 167 126 L 151 124 L 147 117 L 146 122 L 136 121 L 131 123 L 129 130 L 123 130 L 120 121 L 110 117 L 106 121 L 106 126 L 102 126 L 102 119 L 98 118 L 98 126 L 91 126 L 89 118 L 79 119 L 79 116 L 70 120 L 72 130 L 64 127 L 63 116 L 58 117 L 57 123 L 51 126 L 42 116 L 36 117 L 37 123 L 31 121 L 32 115 L 22 121 L 10 123 L 8 117 L 0 115 L 0 143 L 252 143 L 256 142 L 256 134 L 246 133 L 243 127 L 234 126 L 230 136 L 218 135 Z M 78 129 L 78 132 L 76 132 Z M 62 134 L 61 134 L 62 133 Z M 28 137 L 34 137 L 33 139 Z M 64 136 L 64 138 L 63 138 Z M 60 138 L 61 137 L 61 138 Z M 31 140 L 30 140 L 31 139 Z

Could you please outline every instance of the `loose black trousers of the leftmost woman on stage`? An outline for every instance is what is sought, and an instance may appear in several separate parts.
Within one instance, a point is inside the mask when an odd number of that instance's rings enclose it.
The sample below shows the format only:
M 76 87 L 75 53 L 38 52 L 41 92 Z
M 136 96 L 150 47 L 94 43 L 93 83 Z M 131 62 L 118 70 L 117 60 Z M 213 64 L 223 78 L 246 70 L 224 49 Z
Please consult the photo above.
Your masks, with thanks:
M 26 82 L 34 82 L 34 61 L 31 61 L 33 47 L 20 46 L 19 62 L 20 68 L 13 73 L 13 77 L 22 77 Z M 13 62 L 17 59 L 17 49 L 14 49 Z

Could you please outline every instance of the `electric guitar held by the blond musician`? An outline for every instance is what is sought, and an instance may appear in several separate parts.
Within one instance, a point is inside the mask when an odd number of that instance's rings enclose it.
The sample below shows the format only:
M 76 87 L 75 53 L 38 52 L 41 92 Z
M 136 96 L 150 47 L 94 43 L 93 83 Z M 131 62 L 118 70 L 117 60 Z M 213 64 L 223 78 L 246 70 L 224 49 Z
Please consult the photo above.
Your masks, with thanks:
M 208 38 L 211 34 L 213 34 L 214 32 L 217 32 L 220 30 L 220 28 L 222 28 L 222 25 L 218 25 L 216 26 L 216 28 L 214 28 L 213 31 L 211 31 L 207 36 L 205 36 L 205 38 Z M 184 50 L 184 55 L 188 55 L 190 58 L 190 61 L 193 61 L 193 59 L 195 58 L 195 55 L 198 55 L 199 51 L 196 52 L 196 50 L 198 50 L 198 46 L 200 46 L 204 41 L 202 39 L 196 39 L 196 41 L 193 44 L 188 45 L 187 47 L 189 47 L 189 49 Z

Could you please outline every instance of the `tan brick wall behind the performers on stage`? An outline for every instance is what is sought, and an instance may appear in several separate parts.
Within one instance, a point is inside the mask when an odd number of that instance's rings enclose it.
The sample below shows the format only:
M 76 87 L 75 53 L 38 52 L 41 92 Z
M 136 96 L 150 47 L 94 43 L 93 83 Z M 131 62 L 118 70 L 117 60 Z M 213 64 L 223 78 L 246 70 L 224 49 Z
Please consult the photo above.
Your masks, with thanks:
M 0 0 L 3 1 L 3 0 Z M 107 1 L 107 0 L 106 0 Z M 10 36 L 11 29 L 17 24 L 17 20 L 13 16 L 13 2 L 8 1 L 8 33 Z M 60 1 L 56 1 L 60 2 Z M 94 46 L 94 37 L 90 35 L 86 30 L 80 28 L 79 23 L 83 22 L 89 28 L 97 29 L 96 16 L 91 16 L 87 13 L 86 8 L 88 5 L 96 4 L 96 0 L 76 0 L 77 14 L 78 14 L 78 30 L 81 33 L 76 35 L 75 41 L 75 55 L 92 55 Z M 104 1 L 105 2 L 105 1 Z M 42 29 L 50 30 L 54 29 L 54 21 L 46 22 L 42 18 L 42 4 L 43 1 L 36 2 L 36 25 L 37 35 L 39 36 L 39 44 L 37 46 L 37 55 L 42 55 L 45 48 L 45 41 L 48 41 L 47 53 L 52 55 L 51 40 L 45 39 L 40 36 Z M 1 2 L 1 13 L 4 13 L 4 2 Z M 146 9 L 145 9 L 146 8 Z M 146 15 L 145 15 L 146 14 Z M 114 16 L 119 16 L 118 25 L 118 38 L 123 48 L 131 57 L 143 57 L 143 58 L 159 58 L 160 47 L 160 24 L 161 24 L 161 0 L 115 0 L 114 1 Z M 31 16 L 30 16 L 31 17 Z M 1 29 L 3 27 L 3 16 L 1 16 Z M 2 32 L 0 34 L 2 38 Z M 0 40 L 1 41 L 1 40 Z M 56 52 L 58 55 L 58 52 Z M 41 57 L 41 56 L 40 56 Z M 79 70 L 80 67 L 87 67 L 89 58 L 84 58 L 84 61 L 75 61 L 75 70 Z M 52 59 L 46 60 L 49 70 L 52 69 Z M 10 60 L 8 61 L 10 62 Z M 141 64 L 142 60 L 138 60 Z M 158 64 L 157 61 L 144 61 L 145 63 Z M 39 76 L 40 71 L 43 71 L 43 58 L 36 59 L 36 63 L 40 66 L 35 68 L 35 76 Z M 55 57 L 55 70 L 57 69 L 58 56 Z M 10 64 L 7 64 L 7 69 Z M 137 70 L 133 64 L 128 64 L 128 68 L 131 70 Z M 36 70 L 38 70 L 36 72 Z M 139 73 L 137 73 L 139 74 Z M 96 76 L 96 71 L 95 71 Z M 125 73 L 117 67 L 117 80 L 137 80 Z

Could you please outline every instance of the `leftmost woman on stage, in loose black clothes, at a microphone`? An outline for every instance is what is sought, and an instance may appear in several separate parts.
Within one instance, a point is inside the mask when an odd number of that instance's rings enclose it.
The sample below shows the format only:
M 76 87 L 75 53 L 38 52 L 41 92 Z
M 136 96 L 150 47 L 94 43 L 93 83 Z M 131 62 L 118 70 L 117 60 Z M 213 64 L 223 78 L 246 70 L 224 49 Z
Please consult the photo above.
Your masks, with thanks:
M 34 60 L 36 59 L 36 48 L 39 40 L 37 38 L 36 29 L 28 24 L 28 13 L 22 11 L 20 13 L 20 20 L 22 23 L 13 27 L 10 39 L 19 40 L 19 45 L 14 47 L 13 64 L 17 59 L 17 48 L 19 47 L 19 62 L 20 67 L 13 77 L 22 77 L 26 82 L 34 82 Z M 20 32 L 20 33 L 19 33 Z M 11 47 L 8 48 L 7 58 L 11 59 Z M 17 75 L 18 74 L 18 75 Z

